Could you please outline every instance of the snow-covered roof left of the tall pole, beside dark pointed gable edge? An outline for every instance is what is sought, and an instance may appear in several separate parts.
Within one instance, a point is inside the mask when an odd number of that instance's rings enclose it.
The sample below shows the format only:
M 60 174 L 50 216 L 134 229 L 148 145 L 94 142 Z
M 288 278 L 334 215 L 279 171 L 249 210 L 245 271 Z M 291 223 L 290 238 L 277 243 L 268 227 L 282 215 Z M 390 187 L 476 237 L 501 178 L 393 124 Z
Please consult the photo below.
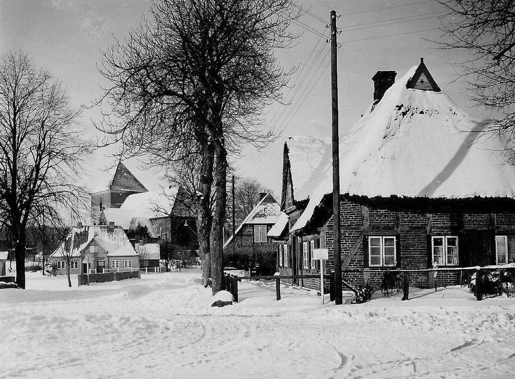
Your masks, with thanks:
M 310 196 L 331 162 L 331 145 L 315 137 L 290 136 L 286 141 L 295 200 Z

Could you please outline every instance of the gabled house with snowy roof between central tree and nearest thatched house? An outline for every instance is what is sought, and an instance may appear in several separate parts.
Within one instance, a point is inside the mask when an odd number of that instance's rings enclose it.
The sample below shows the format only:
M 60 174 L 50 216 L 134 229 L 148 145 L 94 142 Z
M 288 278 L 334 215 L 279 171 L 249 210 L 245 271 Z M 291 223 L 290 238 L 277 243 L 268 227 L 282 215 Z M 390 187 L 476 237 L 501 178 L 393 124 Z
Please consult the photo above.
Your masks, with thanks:
M 259 273 L 272 274 L 276 269 L 276 246 L 268 232 L 281 215 L 279 203 L 271 194 L 261 200 L 245 217 L 224 244 L 226 265 L 246 269 L 260 267 Z

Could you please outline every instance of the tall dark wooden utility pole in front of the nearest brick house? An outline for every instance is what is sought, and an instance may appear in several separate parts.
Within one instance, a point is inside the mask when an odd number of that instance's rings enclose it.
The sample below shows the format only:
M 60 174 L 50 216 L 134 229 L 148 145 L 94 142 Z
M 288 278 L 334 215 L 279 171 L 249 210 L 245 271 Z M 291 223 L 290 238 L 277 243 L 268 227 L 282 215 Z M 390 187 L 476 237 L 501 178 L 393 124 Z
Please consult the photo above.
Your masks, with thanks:
M 342 304 L 341 297 L 341 252 L 340 252 L 340 149 L 338 133 L 338 65 L 336 53 L 336 11 L 331 11 L 331 108 L 333 127 L 333 232 L 334 232 L 334 290 L 336 305 Z

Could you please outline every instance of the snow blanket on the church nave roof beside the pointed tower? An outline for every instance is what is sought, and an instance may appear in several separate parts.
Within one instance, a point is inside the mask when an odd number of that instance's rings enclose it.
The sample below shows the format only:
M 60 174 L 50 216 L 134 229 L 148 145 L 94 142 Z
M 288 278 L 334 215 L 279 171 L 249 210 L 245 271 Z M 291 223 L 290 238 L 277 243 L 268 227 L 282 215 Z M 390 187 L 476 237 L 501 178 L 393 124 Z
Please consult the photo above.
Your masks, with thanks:
M 120 209 L 130 210 L 132 217 L 162 217 L 167 216 L 172 209 L 177 190 L 171 188 L 163 191 L 143 192 L 127 196 Z

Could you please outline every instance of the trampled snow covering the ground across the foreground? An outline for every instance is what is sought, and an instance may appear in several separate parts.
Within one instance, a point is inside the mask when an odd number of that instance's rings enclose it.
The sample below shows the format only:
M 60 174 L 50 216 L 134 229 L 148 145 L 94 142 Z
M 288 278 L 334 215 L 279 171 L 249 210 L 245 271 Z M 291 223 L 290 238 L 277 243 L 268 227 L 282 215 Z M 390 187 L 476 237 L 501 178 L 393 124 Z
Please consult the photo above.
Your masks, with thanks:
M 218 308 L 199 270 L 76 283 L 28 273 L 26 290 L 0 290 L 0 378 L 514 375 L 515 300 L 466 288 L 335 306 L 244 281 Z

